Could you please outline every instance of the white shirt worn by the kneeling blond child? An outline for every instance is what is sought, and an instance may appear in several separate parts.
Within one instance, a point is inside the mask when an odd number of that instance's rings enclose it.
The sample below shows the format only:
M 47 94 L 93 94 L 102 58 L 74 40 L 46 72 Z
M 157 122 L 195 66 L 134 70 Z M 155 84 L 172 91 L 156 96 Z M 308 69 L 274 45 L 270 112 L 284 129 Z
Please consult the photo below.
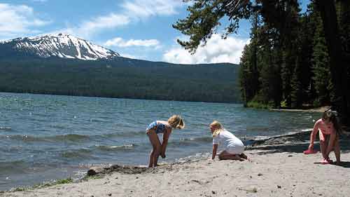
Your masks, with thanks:
M 223 149 L 237 150 L 244 149 L 244 144 L 228 130 L 223 129 L 221 133 L 213 137 L 213 144 L 222 144 Z

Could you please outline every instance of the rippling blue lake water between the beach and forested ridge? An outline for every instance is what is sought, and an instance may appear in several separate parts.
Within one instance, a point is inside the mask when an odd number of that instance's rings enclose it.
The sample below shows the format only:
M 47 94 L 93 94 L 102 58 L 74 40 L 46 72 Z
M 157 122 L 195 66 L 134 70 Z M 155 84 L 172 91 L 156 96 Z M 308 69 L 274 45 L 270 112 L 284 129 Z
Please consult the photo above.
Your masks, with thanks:
M 81 177 L 96 164 L 147 165 L 146 126 L 180 114 L 167 158 L 211 153 L 218 120 L 246 144 L 256 137 L 312 128 L 318 113 L 246 109 L 242 104 L 0 93 L 0 190 Z

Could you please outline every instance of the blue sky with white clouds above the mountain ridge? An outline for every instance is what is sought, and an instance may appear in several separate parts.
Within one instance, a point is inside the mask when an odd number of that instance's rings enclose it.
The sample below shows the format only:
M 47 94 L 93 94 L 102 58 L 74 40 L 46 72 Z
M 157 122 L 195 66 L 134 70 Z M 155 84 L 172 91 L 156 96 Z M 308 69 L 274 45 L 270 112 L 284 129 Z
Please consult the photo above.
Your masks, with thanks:
M 302 0 L 303 10 L 309 0 Z M 182 0 L 0 0 L 0 40 L 66 33 L 123 57 L 181 64 L 239 63 L 251 25 L 221 39 L 223 27 L 190 55 L 176 43 L 186 39 L 172 25 L 186 18 Z M 225 25 L 226 20 L 223 21 Z M 227 23 L 226 23 L 227 24 Z

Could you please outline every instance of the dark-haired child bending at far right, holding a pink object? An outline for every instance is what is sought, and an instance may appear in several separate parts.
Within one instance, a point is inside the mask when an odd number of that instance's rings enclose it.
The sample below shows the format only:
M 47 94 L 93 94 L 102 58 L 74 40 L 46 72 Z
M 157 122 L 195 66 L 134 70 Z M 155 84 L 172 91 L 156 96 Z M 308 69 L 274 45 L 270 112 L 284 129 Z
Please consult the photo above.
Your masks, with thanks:
M 316 134 L 319 130 L 320 137 L 320 147 L 321 153 L 323 156 L 323 160 L 321 163 L 328 164 L 332 163 L 329 158 L 329 154 L 334 150 L 335 158 L 337 159 L 337 165 L 340 163 L 340 147 L 339 147 L 339 123 L 337 121 L 337 117 L 335 113 L 328 110 L 323 113 L 322 118 L 316 121 L 314 125 L 314 130 L 311 132 L 310 136 L 310 145 L 309 150 L 313 151 L 314 149 L 314 140 L 316 138 Z

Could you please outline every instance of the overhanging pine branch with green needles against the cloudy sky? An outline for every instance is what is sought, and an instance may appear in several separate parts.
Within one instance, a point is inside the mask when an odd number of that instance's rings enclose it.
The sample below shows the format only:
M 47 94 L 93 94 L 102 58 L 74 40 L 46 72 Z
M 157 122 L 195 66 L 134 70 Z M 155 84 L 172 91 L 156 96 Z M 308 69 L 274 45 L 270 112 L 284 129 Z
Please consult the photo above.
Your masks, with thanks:
M 235 7 L 234 7 L 235 6 Z M 173 27 L 178 29 L 182 34 L 190 36 L 189 41 L 181 41 L 178 43 L 191 53 L 201 43 L 207 43 L 211 35 L 216 32 L 216 27 L 221 25 L 219 22 L 224 16 L 230 18 L 230 25 L 226 27 L 224 37 L 235 32 L 239 27 L 241 18 L 248 19 L 251 15 L 251 4 L 246 4 L 246 1 L 239 4 L 230 4 L 227 0 L 193 0 L 193 5 L 188 6 L 187 11 L 190 13 L 186 19 L 181 19 L 176 22 Z M 236 11 L 233 15 L 232 11 Z

